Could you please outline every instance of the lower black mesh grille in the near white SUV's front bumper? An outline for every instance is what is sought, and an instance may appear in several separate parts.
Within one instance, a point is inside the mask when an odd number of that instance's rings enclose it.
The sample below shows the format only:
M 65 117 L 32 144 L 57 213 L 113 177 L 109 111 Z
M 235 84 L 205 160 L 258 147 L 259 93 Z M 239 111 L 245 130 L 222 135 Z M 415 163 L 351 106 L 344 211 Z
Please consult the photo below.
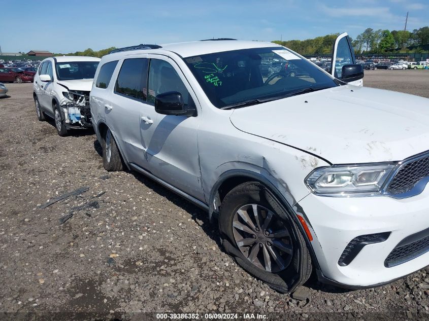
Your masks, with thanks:
M 402 242 L 401 242 L 402 243 Z M 429 235 L 412 243 L 399 243 L 384 261 L 385 267 L 392 267 L 419 257 L 429 251 Z

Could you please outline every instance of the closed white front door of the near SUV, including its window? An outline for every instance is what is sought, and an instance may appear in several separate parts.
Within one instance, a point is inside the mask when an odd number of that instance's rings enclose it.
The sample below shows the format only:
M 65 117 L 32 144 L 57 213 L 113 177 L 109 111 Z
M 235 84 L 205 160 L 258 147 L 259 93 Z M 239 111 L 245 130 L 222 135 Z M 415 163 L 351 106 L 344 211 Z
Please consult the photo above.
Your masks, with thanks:
M 149 102 L 154 103 L 158 94 L 177 91 L 182 94 L 185 105 L 197 103 L 191 87 L 172 59 L 161 55 L 149 57 Z M 141 114 L 141 118 L 152 115 Z M 153 123 L 154 131 L 146 142 L 149 170 L 163 181 L 204 201 L 197 145 L 199 124 L 198 116 L 158 114 Z

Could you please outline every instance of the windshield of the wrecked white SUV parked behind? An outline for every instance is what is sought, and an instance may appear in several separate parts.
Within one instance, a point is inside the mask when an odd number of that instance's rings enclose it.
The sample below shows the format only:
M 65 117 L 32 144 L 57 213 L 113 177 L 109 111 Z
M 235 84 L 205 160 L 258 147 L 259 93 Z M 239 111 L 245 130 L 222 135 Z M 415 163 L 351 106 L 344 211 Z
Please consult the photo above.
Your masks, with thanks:
M 58 80 L 93 79 L 98 61 L 57 62 Z

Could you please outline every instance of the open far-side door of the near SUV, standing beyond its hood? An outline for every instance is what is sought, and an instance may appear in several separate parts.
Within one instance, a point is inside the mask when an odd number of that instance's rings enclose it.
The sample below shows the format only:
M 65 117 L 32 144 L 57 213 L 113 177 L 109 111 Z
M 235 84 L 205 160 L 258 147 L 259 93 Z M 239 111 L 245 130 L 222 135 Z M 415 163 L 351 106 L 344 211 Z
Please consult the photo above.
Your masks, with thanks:
M 332 68 L 331 74 L 337 79 L 341 79 L 341 69 L 343 65 L 355 64 L 356 57 L 354 56 L 354 50 L 350 43 L 347 32 L 341 33 L 334 43 L 334 50 L 332 54 Z M 363 86 L 364 81 L 362 79 L 348 82 L 350 85 Z

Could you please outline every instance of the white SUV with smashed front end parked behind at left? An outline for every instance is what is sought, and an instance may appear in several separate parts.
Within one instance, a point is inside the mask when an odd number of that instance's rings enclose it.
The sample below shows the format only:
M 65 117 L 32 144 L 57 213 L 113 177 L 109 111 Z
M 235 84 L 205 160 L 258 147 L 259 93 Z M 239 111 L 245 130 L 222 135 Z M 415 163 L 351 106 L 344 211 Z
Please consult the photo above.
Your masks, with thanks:
M 100 58 L 50 57 L 42 61 L 33 83 L 33 98 L 40 121 L 55 120 L 60 136 L 69 129 L 90 128 L 89 92 Z

